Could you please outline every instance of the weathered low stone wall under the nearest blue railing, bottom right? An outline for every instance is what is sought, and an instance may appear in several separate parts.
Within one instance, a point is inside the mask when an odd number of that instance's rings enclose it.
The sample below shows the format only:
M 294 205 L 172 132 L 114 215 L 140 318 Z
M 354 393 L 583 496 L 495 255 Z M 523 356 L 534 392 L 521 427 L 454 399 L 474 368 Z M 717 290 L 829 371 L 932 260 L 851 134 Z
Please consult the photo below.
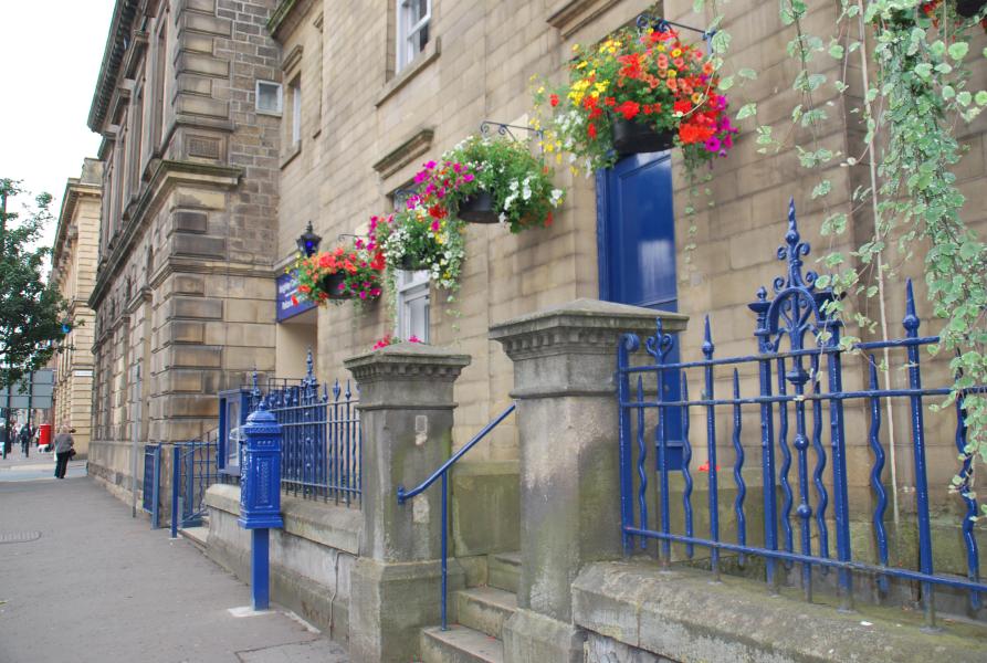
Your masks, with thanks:
M 654 562 L 592 564 L 573 583 L 573 618 L 586 660 L 652 663 L 906 663 L 987 661 L 975 625 L 922 631 L 921 613 L 833 607 L 770 597 L 764 583 Z

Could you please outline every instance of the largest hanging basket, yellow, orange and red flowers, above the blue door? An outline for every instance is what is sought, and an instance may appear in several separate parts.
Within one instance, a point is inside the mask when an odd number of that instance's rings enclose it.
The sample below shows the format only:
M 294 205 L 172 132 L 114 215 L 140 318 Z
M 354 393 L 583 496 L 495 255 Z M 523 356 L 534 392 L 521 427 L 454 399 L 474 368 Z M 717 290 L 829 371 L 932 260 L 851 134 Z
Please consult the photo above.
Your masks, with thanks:
M 692 173 L 733 147 L 720 62 L 703 44 L 683 43 L 672 28 L 624 28 L 573 50 L 568 83 L 534 83 L 538 117 L 549 115 L 535 120 L 546 151 L 568 151 L 592 173 L 623 155 L 674 146 Z

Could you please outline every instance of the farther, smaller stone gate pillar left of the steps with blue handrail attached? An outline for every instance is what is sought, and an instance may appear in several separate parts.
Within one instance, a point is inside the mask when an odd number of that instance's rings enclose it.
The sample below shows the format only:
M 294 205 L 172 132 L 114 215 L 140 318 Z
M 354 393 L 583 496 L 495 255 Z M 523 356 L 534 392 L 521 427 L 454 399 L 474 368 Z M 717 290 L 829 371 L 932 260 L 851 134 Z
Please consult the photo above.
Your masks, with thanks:
M 413 661 L 419 630 L 439 623 L 441 493 L 434 485 L 403 505 L 448 457 L 452 388 L 466 355 L 402 343 L 345 362 L 360 390 L 363 533 L 351 576 L 354 661 Z M 462 582 L 462 571 L 450 587 Z

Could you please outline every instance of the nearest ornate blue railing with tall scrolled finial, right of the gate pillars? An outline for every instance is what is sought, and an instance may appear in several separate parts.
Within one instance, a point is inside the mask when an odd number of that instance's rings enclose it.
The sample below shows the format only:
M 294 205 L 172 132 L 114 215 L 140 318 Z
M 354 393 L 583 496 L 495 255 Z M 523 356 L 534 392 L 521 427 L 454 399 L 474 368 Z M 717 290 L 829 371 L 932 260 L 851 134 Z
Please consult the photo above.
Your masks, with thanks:
M 645 549 L 649 539 L 657 539 L 662 565 L 671 562 L 671 545 L 684 545 L 686 558 L 692 559 L 694 547 L 710 550 L 710 565 L 713 573 L 720 572 L 720 556 L 723 551 L 737 554 L 744 564 L 747 556 L 759 557 L 765 561 L 768 586 L 777 591 L 783 571 L 798 565 L 797 577 L 806 600 L 812 599 L 813 572 L 837 571 L 838 591 L 841 606 L 852 604 L 853 573 L 873 575 L 879 591 L 888 592 L 889 579 L 899 578 L 918 582 L 926 624 L 935 623 L 934 588 L 946 586 L 965 590 L 974 610 L 981 607 L 981 592 L 987 583 L 979 577 L 979 554 L 973 533 L 972 516 L 978 514 L 976 495 L 972 488 L 970 459 L 965 452 L 966 422 L 963 398 L 955 406 L 955 449 L 965 459 L 959 467 L 959 485 L 956 493 L 963 501 L 965 515 L 958 528 L 962 532 L 966 551 L 966 577 L 936 572 L 933 568 L 933 536 L 930 516 L 930 490 L 926 472 L 926 430 L 924 423 L 925 404 L 923 399 L 949 393 L 947 387 L 927 388 L 922 386 L 920 347 L 938 343 L 938 337 L 918 336 L 920 319 L 915 314 L 915 301 L 911 281 L 907 283 L 906 313 L 903 319 L 904 338 L 871 343 L 858 343 L 852 354 L 840 347 L 840 322 L 827 313 L 826 303 L 834 298 L 830 290 L 816 287 L 817 276 L 812 272 L 802 273 L 801 257 L 809 253 L 809 245 L 800 241 L 795 219 L 794 204 L 789 207 L 789 228 L 785 236 L 787 246 L 778 250 L 779 260 L 788 261 L 787 277 L 774 282 L 774 299 L 768 299 L 767 291 L 760 288 L 757 301 L 749 305 L 756 314 L 755 336 L 758 339 L 758 354 L 745 357 L 714 358 L 713 334 L 708 317 L 702 346 L 703 359 L 697 361 L 669 362 L 666 357 L 674 346 L 672 336 L 664 334 L 661 320 L 658 333 L 644 343 L 651 357 L 647 366 L 633 365 L 634 352 L 641 347 L 638 336 L 627 334 L 618 348 L 617 379 L 619 399 L 619 454 L 621 476 L 621 522 L 624 549 L 630 554 L 636 547 Z M 806 340 L 815 343 L 808 347 Z M 788 349 L 783 350 L 787 340 Z M 888 356 L 892 351 L 906 355 L 903 368 L 907 368 L 909 387 L 881 388 L 878 382 L 878 360 L 873 350 Z M 842 385 L 843 356 L 865 355 L 868 362 L 867 389 L 844 390 Z M 640 364 L 640 362 L 638 362 Z M 757 368 L 757 396 L 743 397 L 738 367 L 754 365 Z M 731 398 L 717 398 L 715 369 L 732 368 L 728 377 L 732 387 Z M 891 367 L 885 367 L 891 370 Z M 686 369 L 701 369 L 703 393 L 690 399 Z M 664 376 L 670 371 L 681 372 L 681 398 L 668 399 L 664 394 Z M 823 385 L 825 376 L 825 385 Z M 645 386 L 645 379 L 648 385 Z M 653 381 L 652 381 L 653 380 Z M 647 387 L 647 388 L 645 388 Z M 655 391 L 657 389 L 657 391 Z M 987 388 L 970 388 L 966 393 L 983 393 Z M 657 396 L 652 396 L 655 394 Z M 888 492 L 883 483 L 885 465 L 884 446 L 881 441 L 881 409 L 889 399 L 903 399 L 910 413 L 912 453 L 914 465 L 915 525 L 917 528 L 917 568 L 893 566 L 889 561 L 889 536 L 884 526 L 888 507 Z M 873 464 L 868 475 L 873 494 L 873 509 L 868 514 L 874 540 L 875 561 L 854 558 L 851 549 L 850 478 L 847 472 L 847 435 L 844 408 L 860 403 L 867 412 L 867 449 L 873 454 Z M 755 406 L 760 419 L 762 476 L 764 486 L 763 516 L 764 544 L 750 545 L 747 540 L 747 509 L 745 504 L 747 484 L 744 480 L 744 445 L 742 440 L 744 406 Z M 693 480 L 690 461 L 693 449 L 687 422 L 690 410 L 701 409 L 706 422 L 706 465 L 708 490 L 708 535 L 694 532 L 692 490 Z M 720 530 L 720 485 L 717 466 L 717 408 L 728 410 L 732 424 L 733 478 L 736 497 L 733 512 L 736 525 L 736 543 L 723 540 Z M 668 412 L 679 410 L 685 425 L 685 452 L 680 469 L 671 469 L 663 462 L 666 448 Z M 645 424 L 645 412 L 650 413 Z M 823 444 L 823 430 L 829 431 L 830 455 L 827 457 Z M 660 508 L 658 523 L 649 522 L 649 448 L 645 440 L 653 432 L 657 465 L 653 471 L 659 482 Z M 776 457 L 776 452 L 780 459 Z M 943 456 L 955 462 L 954 453 Z M 780 462 L 779 462 L 780 460 Z M 815 464 L 810 467 L 810 462 Z M 827 473 L 827 466 L 829 471 Z M 670 481 L 673 473 L 682 480 L 682 520 L 684 533 L 672 532 L 672 504 Z M 795 474 L 791 481 L 790 474 Z M 828 475 L 827 475 L 828 474 Z M 637 480 L 637 482 L 636 482 Z M 773 490 L 774 487 L 774 490 Z M 653 488 L 652 488 L 653 490 Z M 780 504 L 779 504 L 780 493 Z M 945 491 L 944 491 L 945 493 Z M 815 501 L 813 501 L 815 494 Z M 832 505 L 832 512 L 828 509 Z M 855 509 L 853 515 L 861 513 Z M 863 513 L 868 513 L 864 507 Z M 832 528 L 832 532 L 830 530 Z M 834 535 L 834 541 L 830 538 Z M 902 532 L 897 532 L 902 536 Z M 813 543 L 815 541 L 815 543 Z M 834 550 L 830 543 L 834 543 Z M 779 568 L 784 565 L 784 569 Z

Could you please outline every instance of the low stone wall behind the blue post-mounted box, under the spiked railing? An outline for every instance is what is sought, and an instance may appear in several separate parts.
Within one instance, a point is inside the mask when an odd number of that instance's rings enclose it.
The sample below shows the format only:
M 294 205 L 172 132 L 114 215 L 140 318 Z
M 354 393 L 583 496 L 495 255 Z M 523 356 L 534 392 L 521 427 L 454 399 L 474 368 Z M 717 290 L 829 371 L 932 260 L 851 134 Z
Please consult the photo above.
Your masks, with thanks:
M 240 487 L 217 484 L 206 493 L 206 554 L 250 581 L 250 533 L 237 523 Z M 271 599 L 326 635 L 349 639 L 349 578 L 359 552 L 360 512 L 321 502 L 281 498 L 284 529 L 271 530 Z

